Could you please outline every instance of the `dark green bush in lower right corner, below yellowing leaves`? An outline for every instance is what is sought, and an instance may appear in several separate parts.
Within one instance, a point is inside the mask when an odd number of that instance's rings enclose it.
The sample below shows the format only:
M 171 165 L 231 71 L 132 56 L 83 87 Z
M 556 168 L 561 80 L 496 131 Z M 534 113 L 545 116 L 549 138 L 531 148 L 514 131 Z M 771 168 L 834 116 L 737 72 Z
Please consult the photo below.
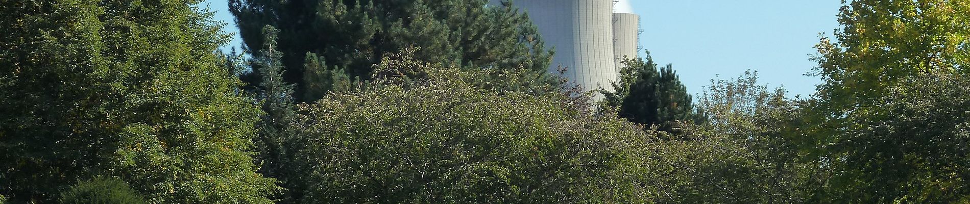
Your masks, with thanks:
M 824 200 L 965 203 L 970 200 L 970 79 L 927 74 L 892 87 L 826 147 L 835 177 Z

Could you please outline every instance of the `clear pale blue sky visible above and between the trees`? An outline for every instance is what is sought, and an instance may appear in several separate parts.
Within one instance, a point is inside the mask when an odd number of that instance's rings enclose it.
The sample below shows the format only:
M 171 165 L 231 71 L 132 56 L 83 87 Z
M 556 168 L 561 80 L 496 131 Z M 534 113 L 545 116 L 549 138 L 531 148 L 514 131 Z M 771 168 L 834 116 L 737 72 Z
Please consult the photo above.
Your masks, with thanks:
M 215 17 L 236 33 L 226 0 L 207 0 Z M 206 4 L 206 3 L 204 3 Z M 784 85 L 791 96 L 809 96 L 820 82 L 806 76 L 819 33 L 838 27 L 838 0 L 630 0 L 640 15 L 640 44 L 661 65 L 673 64 L 699 95 L 713 78 L 758 71 L 769 87 Z M 234 40 L 228 46 L 239 46 Z M 641 53 L 642 55 L 642 53 Z

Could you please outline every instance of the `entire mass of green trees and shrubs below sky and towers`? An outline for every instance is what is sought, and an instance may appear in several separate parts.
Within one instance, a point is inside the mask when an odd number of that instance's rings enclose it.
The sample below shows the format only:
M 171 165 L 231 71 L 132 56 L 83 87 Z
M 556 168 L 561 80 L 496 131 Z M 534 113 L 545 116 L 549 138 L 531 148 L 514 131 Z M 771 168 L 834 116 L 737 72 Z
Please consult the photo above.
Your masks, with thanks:
M 808 98 L 598 105 L 514 7 L 230 0 L 227 56 L 198 3 L 0 0 L 0 203 L 970 202 L 970 1 L 844 1 Z

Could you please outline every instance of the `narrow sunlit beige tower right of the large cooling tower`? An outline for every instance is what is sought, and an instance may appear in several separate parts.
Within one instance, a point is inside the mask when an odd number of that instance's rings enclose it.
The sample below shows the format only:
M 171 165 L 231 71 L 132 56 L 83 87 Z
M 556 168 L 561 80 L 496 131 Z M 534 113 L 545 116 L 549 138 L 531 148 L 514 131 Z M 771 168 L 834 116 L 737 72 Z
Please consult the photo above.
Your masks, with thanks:
M 613 14 L 613 54 L 616 59 L 617 73 L 625 65 L 624 58 L 637 57 L 640 16 L 633 14 Z

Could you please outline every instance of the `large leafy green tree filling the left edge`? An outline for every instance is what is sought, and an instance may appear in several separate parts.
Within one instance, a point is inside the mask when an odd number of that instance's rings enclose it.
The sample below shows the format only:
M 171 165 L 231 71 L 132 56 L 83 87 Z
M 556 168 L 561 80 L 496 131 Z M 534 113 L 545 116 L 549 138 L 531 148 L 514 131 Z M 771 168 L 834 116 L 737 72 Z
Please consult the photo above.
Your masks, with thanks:
M 111 176 L 148 203 L 271 203 L 249 152 L 259 109 L 199 2 L 0 2 L 0 194 L 49 203 Z

